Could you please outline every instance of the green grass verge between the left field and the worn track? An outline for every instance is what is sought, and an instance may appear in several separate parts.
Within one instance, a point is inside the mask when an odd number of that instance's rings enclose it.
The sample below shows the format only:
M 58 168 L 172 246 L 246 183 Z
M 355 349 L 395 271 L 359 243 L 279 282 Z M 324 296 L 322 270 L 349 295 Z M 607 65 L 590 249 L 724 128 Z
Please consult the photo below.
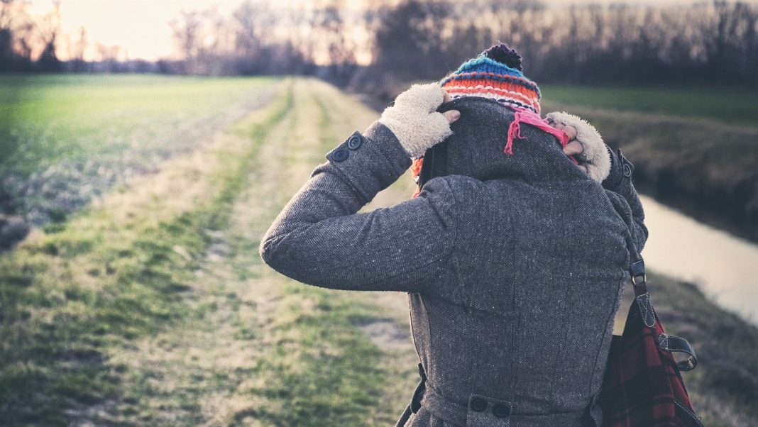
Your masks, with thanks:
M 161 214 L 163 201 L 152 198 L 129 223 L 117 211 L 87 210 L 0 256 L 0 413 L 12 410 L 2 413 L 5 422 L 67 425 L 65 408 L 121 395 L 127 368 L 105 361 L 189 312 L 182 292 L 210 242 L 200 230 L 227 225 L 263 136 L 291 108 L 291 93 L 284 99 L 252 127 L 244 151 L 208 158 L 218 164 L 202 177 L 211 191 L 185 209 Z

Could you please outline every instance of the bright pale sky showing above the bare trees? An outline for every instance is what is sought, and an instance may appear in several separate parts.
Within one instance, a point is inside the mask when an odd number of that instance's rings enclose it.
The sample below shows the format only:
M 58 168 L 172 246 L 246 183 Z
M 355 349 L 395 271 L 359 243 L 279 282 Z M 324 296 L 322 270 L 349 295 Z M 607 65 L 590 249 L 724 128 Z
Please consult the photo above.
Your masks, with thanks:
M 303 0 L 271 0 L 272 4 L 287 4 Z M 353 5 L 362 1 L 349 0 Z M 758 0 L 750 0 L 756 2 Z M 219 11 L 232 11 L 243 0 L 61 0 L 61 30 L 64 37 L 76 40 L 80 28 L 86 29 L 89 48 L 85 59 L 97 59 L 96 43 L 119 45 L 124 50 L 120 59 L 176 58 L 169 22 L 183 10 L 205 10 L 216 6 Z M 546 0 L 552 6 L 570 3 L 618 3 L 619 0 Z M 634 0 L 636 4 L 677 5 L 693 0 Z M 52 10 L 52 0 L 32 0 L 30 11 L 45 14 Z M 59 58 L 67 58 L 67 49 L 61 49 Z

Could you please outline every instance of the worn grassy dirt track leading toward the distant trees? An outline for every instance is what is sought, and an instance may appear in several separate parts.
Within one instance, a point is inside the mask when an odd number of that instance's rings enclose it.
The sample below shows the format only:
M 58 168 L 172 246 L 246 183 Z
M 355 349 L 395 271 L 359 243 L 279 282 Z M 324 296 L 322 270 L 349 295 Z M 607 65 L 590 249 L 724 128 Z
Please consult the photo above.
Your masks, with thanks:
M 123 396 L 70 411 L 78 425 L 390 425 L 402 412 L 416 381 L 405 295 L 304 286 L 258 256 L 324 154 L 374 119 L 318 81 L 297 80 L 293 93 L 227 227 L 203 230 L 210 242 L 183 292 L 187 315 L 112 355 Z M 399 182 L 377 204 L 407 194 Z

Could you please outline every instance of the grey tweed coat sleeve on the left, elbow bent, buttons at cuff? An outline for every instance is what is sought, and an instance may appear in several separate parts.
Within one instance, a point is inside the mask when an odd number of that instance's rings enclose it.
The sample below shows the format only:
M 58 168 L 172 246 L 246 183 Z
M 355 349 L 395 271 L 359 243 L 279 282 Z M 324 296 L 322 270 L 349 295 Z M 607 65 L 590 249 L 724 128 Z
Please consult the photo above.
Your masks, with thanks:
M 437 179 L 418 198 L 359 214 L 408 169 L 408 154 L 390 129 L 374 123 L 327 160 L 263 236 L 265 263 L 324 288 L 416 292 L 439 279 L 454 242 L 447 182 Z

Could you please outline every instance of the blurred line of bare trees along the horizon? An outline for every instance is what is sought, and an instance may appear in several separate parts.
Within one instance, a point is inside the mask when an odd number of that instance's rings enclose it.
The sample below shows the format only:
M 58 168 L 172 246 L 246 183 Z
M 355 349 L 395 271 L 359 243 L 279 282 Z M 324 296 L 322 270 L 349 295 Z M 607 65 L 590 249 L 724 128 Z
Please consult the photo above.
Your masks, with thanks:
M 439 79 L 495 41 L 522 53 L 540 82 L 758 86 L 758 8 L 744 2 L 547 8 L 529 0 L 344 0 L 299 7 L 248 1 L 231 14 L 185 11 L 171 22 L 180 60 L 123 61 L 86 32 L 61 42 L 60 3 L 32 19 L 2 1 L 0 71 L 305 74 L 380 90 Z M 58 59 L 61 46 L 67 61 Z

